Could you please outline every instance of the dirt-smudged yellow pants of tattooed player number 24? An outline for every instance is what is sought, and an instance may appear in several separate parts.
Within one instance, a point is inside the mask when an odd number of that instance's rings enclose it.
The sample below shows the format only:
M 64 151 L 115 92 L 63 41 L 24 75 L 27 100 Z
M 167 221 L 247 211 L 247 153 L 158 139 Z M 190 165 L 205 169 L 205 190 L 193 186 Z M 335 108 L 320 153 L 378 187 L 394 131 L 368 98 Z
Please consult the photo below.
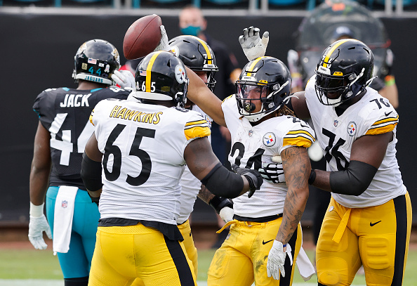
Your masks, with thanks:
M 303 240 L 300 224 L 288 242 L 292 249 L 293 265 L 286 263 L 285 278 L 281 276 L 280 280 L 274 280 L 267 277 L 267 257 L 281 222 L 282 218 L 267 223 L 234 220 L 229 235 L 211 261 L 207 285 L 249 286 L 253 282 L 256 286 L 291 285 Z

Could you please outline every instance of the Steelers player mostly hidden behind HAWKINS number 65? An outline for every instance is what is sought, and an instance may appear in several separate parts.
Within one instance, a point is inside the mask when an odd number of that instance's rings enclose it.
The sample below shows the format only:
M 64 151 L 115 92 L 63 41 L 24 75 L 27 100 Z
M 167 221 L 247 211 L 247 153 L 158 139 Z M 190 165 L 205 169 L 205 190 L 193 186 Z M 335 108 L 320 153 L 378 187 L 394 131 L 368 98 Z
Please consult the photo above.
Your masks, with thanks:
M 207 86 L 209 86 L 209 89 L 213 91 L 214 86 L 216 85 L 214 74 L 218 71 L 218 66 L 216 65 L 216 57 L 210 46 L 206 44 L 205 41 L 194 36 L 175 37 L 168 42 L 168 45 L 170 47 L 167 49 L 171 49 L 173 53 L 178 55 L 178 58 L 183 61 L 184 65 L 190 67 L 190 69 L 194 71 Z M 191 100 L 187 100 L 185 108 L 199 112 L 209 123 L 209 127 L 211 126 L 212 119 L 197 105 L 192 103 Z M 210 141 L 211 136 L 208 136 L 208 138 Z M 233 204 L 225 197 L 213 195 L 204 185 L 201 186 L 199 179 L 191 173 L 187 166 L 185 166 L 183 176 L 181 176 L 180 184 L 182 188 L 180 197 L 181 209 L 177 219 L 177 225 L 183 235 L 185 250 L 188 258 L 192 261 L 194 273 L 197 277 L 197 248 L 194 246 L 189 221 L 197 195 L 207 204 L 211 204 L 211 206 L 216 209 L 216 212 L 218 212 L 226 221 L 231 221 L 233 219 Z M 143 285 L 143 281 L 136 279 L 132 285 Z

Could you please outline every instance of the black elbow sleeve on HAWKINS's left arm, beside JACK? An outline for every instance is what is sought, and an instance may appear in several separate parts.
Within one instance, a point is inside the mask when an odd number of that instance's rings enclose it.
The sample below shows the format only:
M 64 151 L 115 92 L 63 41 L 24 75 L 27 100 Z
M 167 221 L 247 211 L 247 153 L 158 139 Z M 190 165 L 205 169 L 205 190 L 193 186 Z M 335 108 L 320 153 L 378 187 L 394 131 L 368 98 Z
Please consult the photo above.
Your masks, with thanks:
M 80 174 L 87 190 L 95 191 L 102 188 L 101 171 L 101 162 L 91 160 L 86 153 L 84 153 Z

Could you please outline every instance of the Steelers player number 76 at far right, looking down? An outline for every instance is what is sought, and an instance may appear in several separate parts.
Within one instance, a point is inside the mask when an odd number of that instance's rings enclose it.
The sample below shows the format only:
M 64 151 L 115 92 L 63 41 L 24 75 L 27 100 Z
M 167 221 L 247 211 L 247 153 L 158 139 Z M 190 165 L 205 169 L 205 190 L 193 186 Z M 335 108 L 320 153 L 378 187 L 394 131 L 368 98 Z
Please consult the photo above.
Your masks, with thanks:
M 309 181 L 331 192 L 316 249 L 319 285 L 350 285 L 362 265 L 367 284 L 402 285 L 411 201 L 395 157 L 398 114 L 369 88 L 372 79 L 371 48 L 340 39 L 289 102 L 311 117 L 329 170 L 312 170 Z

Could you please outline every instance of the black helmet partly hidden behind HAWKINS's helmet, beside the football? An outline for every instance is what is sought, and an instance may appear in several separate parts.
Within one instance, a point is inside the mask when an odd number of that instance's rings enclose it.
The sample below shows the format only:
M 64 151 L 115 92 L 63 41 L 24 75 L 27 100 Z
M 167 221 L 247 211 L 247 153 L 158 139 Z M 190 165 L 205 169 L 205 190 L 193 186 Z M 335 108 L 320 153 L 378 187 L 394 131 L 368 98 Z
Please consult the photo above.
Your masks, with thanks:
M 173 53 L 183 61 L 184 65 L 190 67 L 194 72 L 207 72 L 207 86 L 213 91 L 216 86 L 214 74 L 218 71 L 216 57 L 210 46 L 194 36 L 178 36 L 168 42 Z

